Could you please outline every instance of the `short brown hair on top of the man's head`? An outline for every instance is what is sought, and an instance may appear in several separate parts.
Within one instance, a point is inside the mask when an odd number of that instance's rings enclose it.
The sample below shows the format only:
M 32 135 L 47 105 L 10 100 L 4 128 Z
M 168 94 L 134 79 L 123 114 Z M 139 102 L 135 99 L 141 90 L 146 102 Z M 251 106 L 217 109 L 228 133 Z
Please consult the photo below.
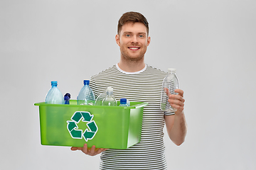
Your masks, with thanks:
M 125 23 L 129 22 L 143 23 L 144 26 L 146 26 L 146 33 L 147 35 L 149 35 L 149 23 L 146 21 L 146 18 L 142 15 L 142 13 L 137 12 L 127 12 L 121 16 L 121 18 L 118 21 L 117 34 L 119 34 L 122 30 L 122 26 L 124 26 Z

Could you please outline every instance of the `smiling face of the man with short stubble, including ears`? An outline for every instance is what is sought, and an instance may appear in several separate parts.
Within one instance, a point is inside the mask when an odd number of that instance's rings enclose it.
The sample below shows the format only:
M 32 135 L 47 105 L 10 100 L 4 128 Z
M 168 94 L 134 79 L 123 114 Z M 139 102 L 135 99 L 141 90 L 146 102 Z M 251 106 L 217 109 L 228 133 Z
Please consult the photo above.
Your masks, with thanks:
M 138 61 L 144 58 L 150 37 L 143 23 L 126 23 L 119 35 L 116 35 L 116 41 L 120 47 L 121 57 L 125 60 Z

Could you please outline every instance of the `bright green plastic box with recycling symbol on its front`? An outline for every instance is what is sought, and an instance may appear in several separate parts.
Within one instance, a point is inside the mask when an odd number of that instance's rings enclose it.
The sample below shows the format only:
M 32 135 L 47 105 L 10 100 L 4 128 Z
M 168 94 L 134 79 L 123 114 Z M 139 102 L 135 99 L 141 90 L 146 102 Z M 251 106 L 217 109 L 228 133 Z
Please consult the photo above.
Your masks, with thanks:
M 85 106 L 35 103 L 39 106 L 41 144 L 54 146 L 127 149 L 140 142 L 144 106 Z

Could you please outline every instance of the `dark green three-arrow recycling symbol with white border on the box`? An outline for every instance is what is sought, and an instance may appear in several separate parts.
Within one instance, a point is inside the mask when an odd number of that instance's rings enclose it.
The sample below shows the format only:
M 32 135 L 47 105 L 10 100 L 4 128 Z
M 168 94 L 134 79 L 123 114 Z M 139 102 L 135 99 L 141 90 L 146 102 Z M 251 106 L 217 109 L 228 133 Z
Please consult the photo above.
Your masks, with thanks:
M 76 111 L 71 120 L 68 120 L 67 128 L 68 132 L 70 132 L 70 135 L 74 139 L 82 139 L 82 137 L 87 142 L 88 140 L 92 140 L 93 137 L 95 137 L 95 134 L 98 130 L 97 125 L 94 120 L 92 120 L 93 115 L 90 114 L 90 112 L 85 111 Z M 82 130 L 78 129 L 77 123 L 80 123 L 80 121 L 87 123 L 87 128 L 84 132 Z

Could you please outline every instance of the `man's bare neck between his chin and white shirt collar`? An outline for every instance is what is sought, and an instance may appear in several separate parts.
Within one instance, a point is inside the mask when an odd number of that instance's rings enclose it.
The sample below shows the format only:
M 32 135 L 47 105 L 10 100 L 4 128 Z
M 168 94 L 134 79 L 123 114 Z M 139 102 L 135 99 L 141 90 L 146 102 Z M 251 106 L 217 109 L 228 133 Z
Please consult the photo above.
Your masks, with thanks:
M 127 60 L 120 60 L 118 63 L 118 67 L 122 69 L 124 72 L 139 72 L 140 70 L 144 69 L 145 63 L 144 59 L 139 61 L 127 61 Z

